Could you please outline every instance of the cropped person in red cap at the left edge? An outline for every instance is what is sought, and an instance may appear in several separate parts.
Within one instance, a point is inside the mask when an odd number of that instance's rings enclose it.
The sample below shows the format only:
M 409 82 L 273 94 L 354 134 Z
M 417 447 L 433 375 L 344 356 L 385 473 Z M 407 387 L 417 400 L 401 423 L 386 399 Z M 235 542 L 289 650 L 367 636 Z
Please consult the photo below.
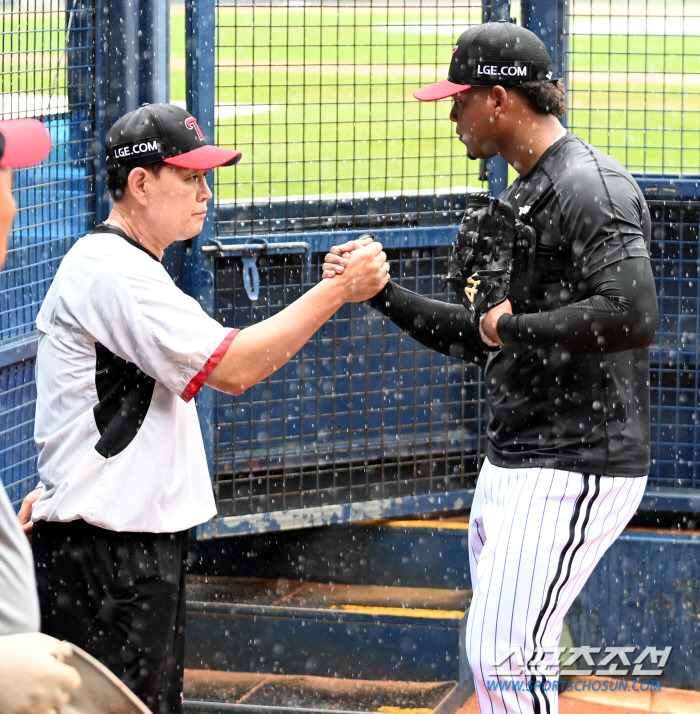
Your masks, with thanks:
M 36 119 L 0 121 L 0 266 L 15 216 L 12 169 L 43 161 L 51 136 Z M 66 704 L 80 677 L 61 663 L 65 643 L 39 634 L 32 554 L 0 489 L 0 711 L 46 714 Z M 65 652 L 67 654 L 67 652 Z

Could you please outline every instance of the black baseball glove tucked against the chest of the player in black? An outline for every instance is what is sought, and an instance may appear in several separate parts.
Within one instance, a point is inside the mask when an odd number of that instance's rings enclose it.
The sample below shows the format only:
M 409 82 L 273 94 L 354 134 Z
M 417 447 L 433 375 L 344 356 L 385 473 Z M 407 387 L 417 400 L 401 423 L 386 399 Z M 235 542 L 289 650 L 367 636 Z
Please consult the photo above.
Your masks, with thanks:
M 469 310 L 479 334 L 479 320 L 508 297 L 516 245 L 534 244 L 535 232 L 516 220 L 507 201 L 470 197 L 448 259 L 447 280 Z

